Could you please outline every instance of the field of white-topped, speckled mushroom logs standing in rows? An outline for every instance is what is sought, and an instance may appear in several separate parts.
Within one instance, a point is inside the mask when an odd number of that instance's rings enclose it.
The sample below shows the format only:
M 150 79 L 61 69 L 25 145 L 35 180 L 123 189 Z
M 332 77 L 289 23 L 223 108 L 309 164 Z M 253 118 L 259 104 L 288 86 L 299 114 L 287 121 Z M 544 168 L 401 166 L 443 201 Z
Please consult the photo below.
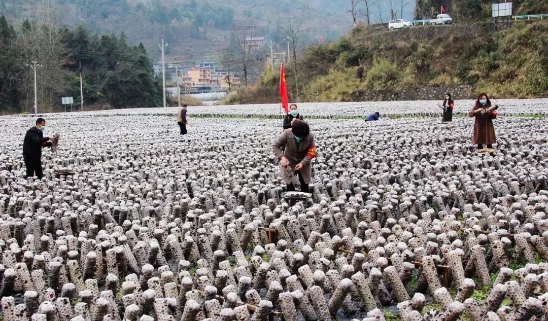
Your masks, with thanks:
M 299 105 L 299 202 L 275 105 L 42 114 L 42 180 L 0 116 L 0 320 L 548 320 L 548 100 L 497 103 L 492 154 L 470 101 Z

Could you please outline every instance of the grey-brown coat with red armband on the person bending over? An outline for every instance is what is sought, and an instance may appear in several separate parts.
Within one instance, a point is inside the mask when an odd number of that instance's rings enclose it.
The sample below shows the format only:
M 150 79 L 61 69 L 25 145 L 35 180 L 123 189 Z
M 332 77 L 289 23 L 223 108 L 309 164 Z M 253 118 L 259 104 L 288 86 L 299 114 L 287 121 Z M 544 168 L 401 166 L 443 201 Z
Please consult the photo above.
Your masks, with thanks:
M 286 146 L 286 149 L 282 151 L 281 147 Z M 309 134 L 302 139 L 300 148 L 297 148 L 297 141 L 293 136 L 293 131 L 288 128 L 282 132 L 279 137 L 272 142 L 272 151 L 281 159 L 285 156 L 289 160 L 289 166 L 292 170 L 295 170 L 295 166 L 299 163 L 302 164 L 301 169 L 302 179 L 308 184 L 312 181 L 312 158 L 316 157 L 316 145 L 314 144 L 314 135 Z M 282 166 L 282 179 L 286 184 L 291 184 L 291 173 Z

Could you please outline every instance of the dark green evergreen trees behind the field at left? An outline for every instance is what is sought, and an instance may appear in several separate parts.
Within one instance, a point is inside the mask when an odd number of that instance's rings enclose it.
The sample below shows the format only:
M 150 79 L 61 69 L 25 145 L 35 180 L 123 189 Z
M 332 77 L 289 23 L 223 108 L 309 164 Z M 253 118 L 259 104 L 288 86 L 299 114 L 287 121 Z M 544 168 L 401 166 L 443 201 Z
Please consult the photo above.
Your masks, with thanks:
M 24 21 L 21 34 L 31 33 L 36 24 Z M 60 29 L 61 47 L 67 56 L 62 69 L 68 77 L 57 84 L 66 88 L 64 94 L 75 100 L 80 96 L 79 71 L 82 68 L 84 109 L 96 105 L 114 108 L 156 107 L 162 101 L 161 83 L 153 77 L 152 61 L 142 43 L 127 44 L 125 33 L 90 35 L 83 26 Z M 0 16 L 0 112 L 21 112 L 33 101 L 26 98 L 30 73 L 25 63 L 28 57 L 17 49 L 17 32 Z M 55 97 L 56 101 L 57 98 Z M 60 106 L 56 106 L 60 108 Z

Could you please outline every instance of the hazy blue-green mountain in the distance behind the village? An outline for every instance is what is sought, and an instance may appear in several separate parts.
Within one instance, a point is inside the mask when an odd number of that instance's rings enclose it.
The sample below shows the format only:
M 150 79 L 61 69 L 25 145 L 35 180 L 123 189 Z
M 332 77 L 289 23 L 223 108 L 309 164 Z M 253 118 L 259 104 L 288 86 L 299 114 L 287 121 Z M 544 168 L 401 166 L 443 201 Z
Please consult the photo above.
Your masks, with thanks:
M 399 0 L 408 3 L 406 0 Z M 165 51 L 168 58 L 197 61 L 219 58 L 230 45 L 234 25 L 253 24 L 256 35 L 275 43 L 275 50 L 285 51 L 289 20 L 299 25 L 299 47 L 323 41 L 334 41 L 353 26 L 350 0 L 42 0 L 57 8 L 62 24 L 83 25 L 93 32 L 119 35 L 122 31 L 128 42 L 142 42 L 147 52 L 159 59 L 157 43 L 162 38 L 171 45 Z M 397 0 L 393 0 L 396 7 Z M 397 3 L 397 4 L 396 4 Z M 12 24 L 36 14 L 32 0 L 0 0 L 0 15 Z M 385 4 L 386 5 L 386 4 Z M 371 13 L 373 21 L 384 22 L 389 9 L 379 7 Z M 378 11 L 381 11 L 381 15 Z M 414 8 L 406 7 L 407 19 Z M 399 9 L 398 9 L 399 12 Z M 375 18 L 378 16 L 378 18 Z M 398 17 L 399 18 L 399 17 Z M 365 20 L 362 16 L 359 18 Z

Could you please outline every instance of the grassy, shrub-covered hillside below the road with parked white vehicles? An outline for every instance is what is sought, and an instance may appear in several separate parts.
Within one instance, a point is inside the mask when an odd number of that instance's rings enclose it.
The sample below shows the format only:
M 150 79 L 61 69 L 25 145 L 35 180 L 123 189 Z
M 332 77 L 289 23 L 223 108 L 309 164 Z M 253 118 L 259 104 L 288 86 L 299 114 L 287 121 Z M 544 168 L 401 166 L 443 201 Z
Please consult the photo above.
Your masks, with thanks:
M 393 32 L 359 26 L 332 44 L 309 47 L 297 65 L 287 67 L 290 98 L 354 101 L 371 91 L 397 94 L 448 86 L 487 91 L 496 98 L 548 96 L 548 21 L 492 30 L 492 24 Z M 243 90 L 231 100 L 277 102 L 277 79 L 275 73 L 265 74 L 256 86 L 260 90 Z

